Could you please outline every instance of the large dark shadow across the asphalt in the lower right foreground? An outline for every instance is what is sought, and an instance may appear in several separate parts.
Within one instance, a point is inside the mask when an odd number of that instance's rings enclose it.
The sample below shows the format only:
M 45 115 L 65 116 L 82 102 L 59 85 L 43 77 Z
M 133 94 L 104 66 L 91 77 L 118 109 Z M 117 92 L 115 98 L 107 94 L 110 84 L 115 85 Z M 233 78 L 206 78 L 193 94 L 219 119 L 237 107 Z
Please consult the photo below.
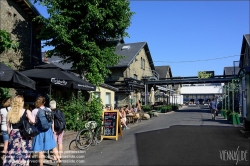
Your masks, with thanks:
M 249 139 L 236 127 L 182 125 L 135 136 L 139 165 L 250 165 Z

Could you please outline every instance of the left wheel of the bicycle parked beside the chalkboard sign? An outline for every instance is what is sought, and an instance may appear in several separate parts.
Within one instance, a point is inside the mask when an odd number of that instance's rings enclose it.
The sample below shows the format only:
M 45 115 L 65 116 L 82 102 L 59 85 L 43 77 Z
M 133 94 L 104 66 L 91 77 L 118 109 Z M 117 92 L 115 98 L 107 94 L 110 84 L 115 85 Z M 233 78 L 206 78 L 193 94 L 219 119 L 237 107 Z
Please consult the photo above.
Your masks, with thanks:
M 92 143 L 91 131 L 89 131 L 87 129 L 83 129 L 77 133 L 76 146 L 79 149 L 84 150 L 84 149 L 88 148 L 89 145 L 91 145 L 91 143 Z

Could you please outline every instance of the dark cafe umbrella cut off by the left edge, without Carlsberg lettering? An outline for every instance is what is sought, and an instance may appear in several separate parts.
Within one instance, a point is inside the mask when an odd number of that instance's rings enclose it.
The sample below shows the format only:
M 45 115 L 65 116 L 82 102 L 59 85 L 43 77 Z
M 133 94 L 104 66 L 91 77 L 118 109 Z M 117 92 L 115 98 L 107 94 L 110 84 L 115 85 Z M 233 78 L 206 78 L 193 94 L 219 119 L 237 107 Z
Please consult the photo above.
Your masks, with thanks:
M 36 89 L 36 82 L 0 62 L 0 87 Z

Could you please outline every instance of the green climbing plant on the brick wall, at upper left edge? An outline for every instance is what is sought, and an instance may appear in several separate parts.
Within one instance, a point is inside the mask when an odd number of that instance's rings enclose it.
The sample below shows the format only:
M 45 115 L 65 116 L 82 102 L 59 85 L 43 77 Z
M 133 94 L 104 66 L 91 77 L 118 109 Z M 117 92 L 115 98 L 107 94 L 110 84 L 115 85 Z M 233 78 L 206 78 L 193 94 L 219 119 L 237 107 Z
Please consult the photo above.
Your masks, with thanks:
M 18 46 L 19 44 L 11 39 L 7 31 L 0 30 L 0 54 L 10 49 L 17 51 Z

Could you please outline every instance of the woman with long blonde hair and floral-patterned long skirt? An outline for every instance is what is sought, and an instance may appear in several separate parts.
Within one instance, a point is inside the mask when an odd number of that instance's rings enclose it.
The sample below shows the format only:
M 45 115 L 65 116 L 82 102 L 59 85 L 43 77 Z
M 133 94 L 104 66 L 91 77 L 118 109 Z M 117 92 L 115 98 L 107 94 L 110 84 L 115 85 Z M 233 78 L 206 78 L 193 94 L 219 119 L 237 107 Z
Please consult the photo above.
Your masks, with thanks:
M 23 97 L 16 96 L 14 97 L 11 109 L 7 114 L 7 131 L 10 138 L 6 155 L 3 160 L 4 166 L 29 165 L 32 140 L 25 138 L 22 134 L 23 120 L 28 118 L 31 124 L 35 124 L 35 118 L 31 111 L 24 109 L 23 106 Z

